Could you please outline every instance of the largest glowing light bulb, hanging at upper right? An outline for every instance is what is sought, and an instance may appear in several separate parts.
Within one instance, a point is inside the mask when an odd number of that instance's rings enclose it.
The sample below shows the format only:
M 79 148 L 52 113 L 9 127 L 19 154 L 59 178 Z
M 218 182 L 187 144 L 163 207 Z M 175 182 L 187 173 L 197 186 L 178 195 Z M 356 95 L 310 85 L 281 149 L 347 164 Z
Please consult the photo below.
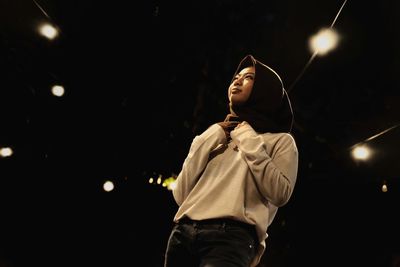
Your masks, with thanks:
M 339 35 L 332 28 L 323 28 L 309 39 L 312 53 L 325 55 L 337 46 Z

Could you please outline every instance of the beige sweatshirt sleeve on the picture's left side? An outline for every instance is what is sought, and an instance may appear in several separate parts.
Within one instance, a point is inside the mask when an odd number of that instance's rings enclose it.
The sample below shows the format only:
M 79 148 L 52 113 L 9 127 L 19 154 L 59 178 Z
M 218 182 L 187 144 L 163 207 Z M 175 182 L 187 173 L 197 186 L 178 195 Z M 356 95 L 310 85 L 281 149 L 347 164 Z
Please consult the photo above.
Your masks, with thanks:
M 179 206 L 196 185 L 207 165 L 211 151 L 222 143 L 226 143 L 226 136 L 224 130 L 218 124 L 213 124 L 201 135 L 193 139 L 189 153 L 182 165 L 182 170 L 176 178 L 175 187 L 172 191 L 175 201 Z

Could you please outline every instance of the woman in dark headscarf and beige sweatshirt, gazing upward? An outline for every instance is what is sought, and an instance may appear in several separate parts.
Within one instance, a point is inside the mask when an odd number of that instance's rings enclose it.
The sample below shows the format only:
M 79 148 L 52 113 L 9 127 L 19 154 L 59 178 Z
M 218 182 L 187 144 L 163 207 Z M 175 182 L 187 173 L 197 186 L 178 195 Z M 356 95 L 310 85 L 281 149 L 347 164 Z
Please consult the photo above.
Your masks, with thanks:
M 165 267 L 256 266 L 268 226 L 292 195 L 298 151 L 282 80 L 248 55 L 228 99 L 230 114 L 193 139 L 176 179 Z

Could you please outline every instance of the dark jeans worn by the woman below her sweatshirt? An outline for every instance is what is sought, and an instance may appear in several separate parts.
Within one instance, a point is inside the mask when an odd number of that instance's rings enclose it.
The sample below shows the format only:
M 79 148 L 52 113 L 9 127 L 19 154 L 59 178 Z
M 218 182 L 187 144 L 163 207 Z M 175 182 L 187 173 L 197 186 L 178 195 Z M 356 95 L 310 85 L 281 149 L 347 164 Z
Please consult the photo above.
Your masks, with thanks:
M 255 228 L 229 220 L 185 220 L 169 236 L 164 267 L 248 267 L 258 243 Z

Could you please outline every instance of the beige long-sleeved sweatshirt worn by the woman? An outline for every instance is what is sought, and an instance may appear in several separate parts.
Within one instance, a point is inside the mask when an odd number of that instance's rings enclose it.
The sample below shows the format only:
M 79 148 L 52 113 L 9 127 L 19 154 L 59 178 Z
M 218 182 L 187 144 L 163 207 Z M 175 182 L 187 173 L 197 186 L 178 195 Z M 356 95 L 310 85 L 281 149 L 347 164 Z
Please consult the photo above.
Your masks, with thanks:
M 256 266 L 265 251 L 267 228 L 292 195 L 298 169 L 295 140 L 288 133 L 258 134 L 248 123 L 227 144 L 214 124 L 193 139 L 176 180 L 179 209 L 174 221 L 230 218 L 256 226 Z

